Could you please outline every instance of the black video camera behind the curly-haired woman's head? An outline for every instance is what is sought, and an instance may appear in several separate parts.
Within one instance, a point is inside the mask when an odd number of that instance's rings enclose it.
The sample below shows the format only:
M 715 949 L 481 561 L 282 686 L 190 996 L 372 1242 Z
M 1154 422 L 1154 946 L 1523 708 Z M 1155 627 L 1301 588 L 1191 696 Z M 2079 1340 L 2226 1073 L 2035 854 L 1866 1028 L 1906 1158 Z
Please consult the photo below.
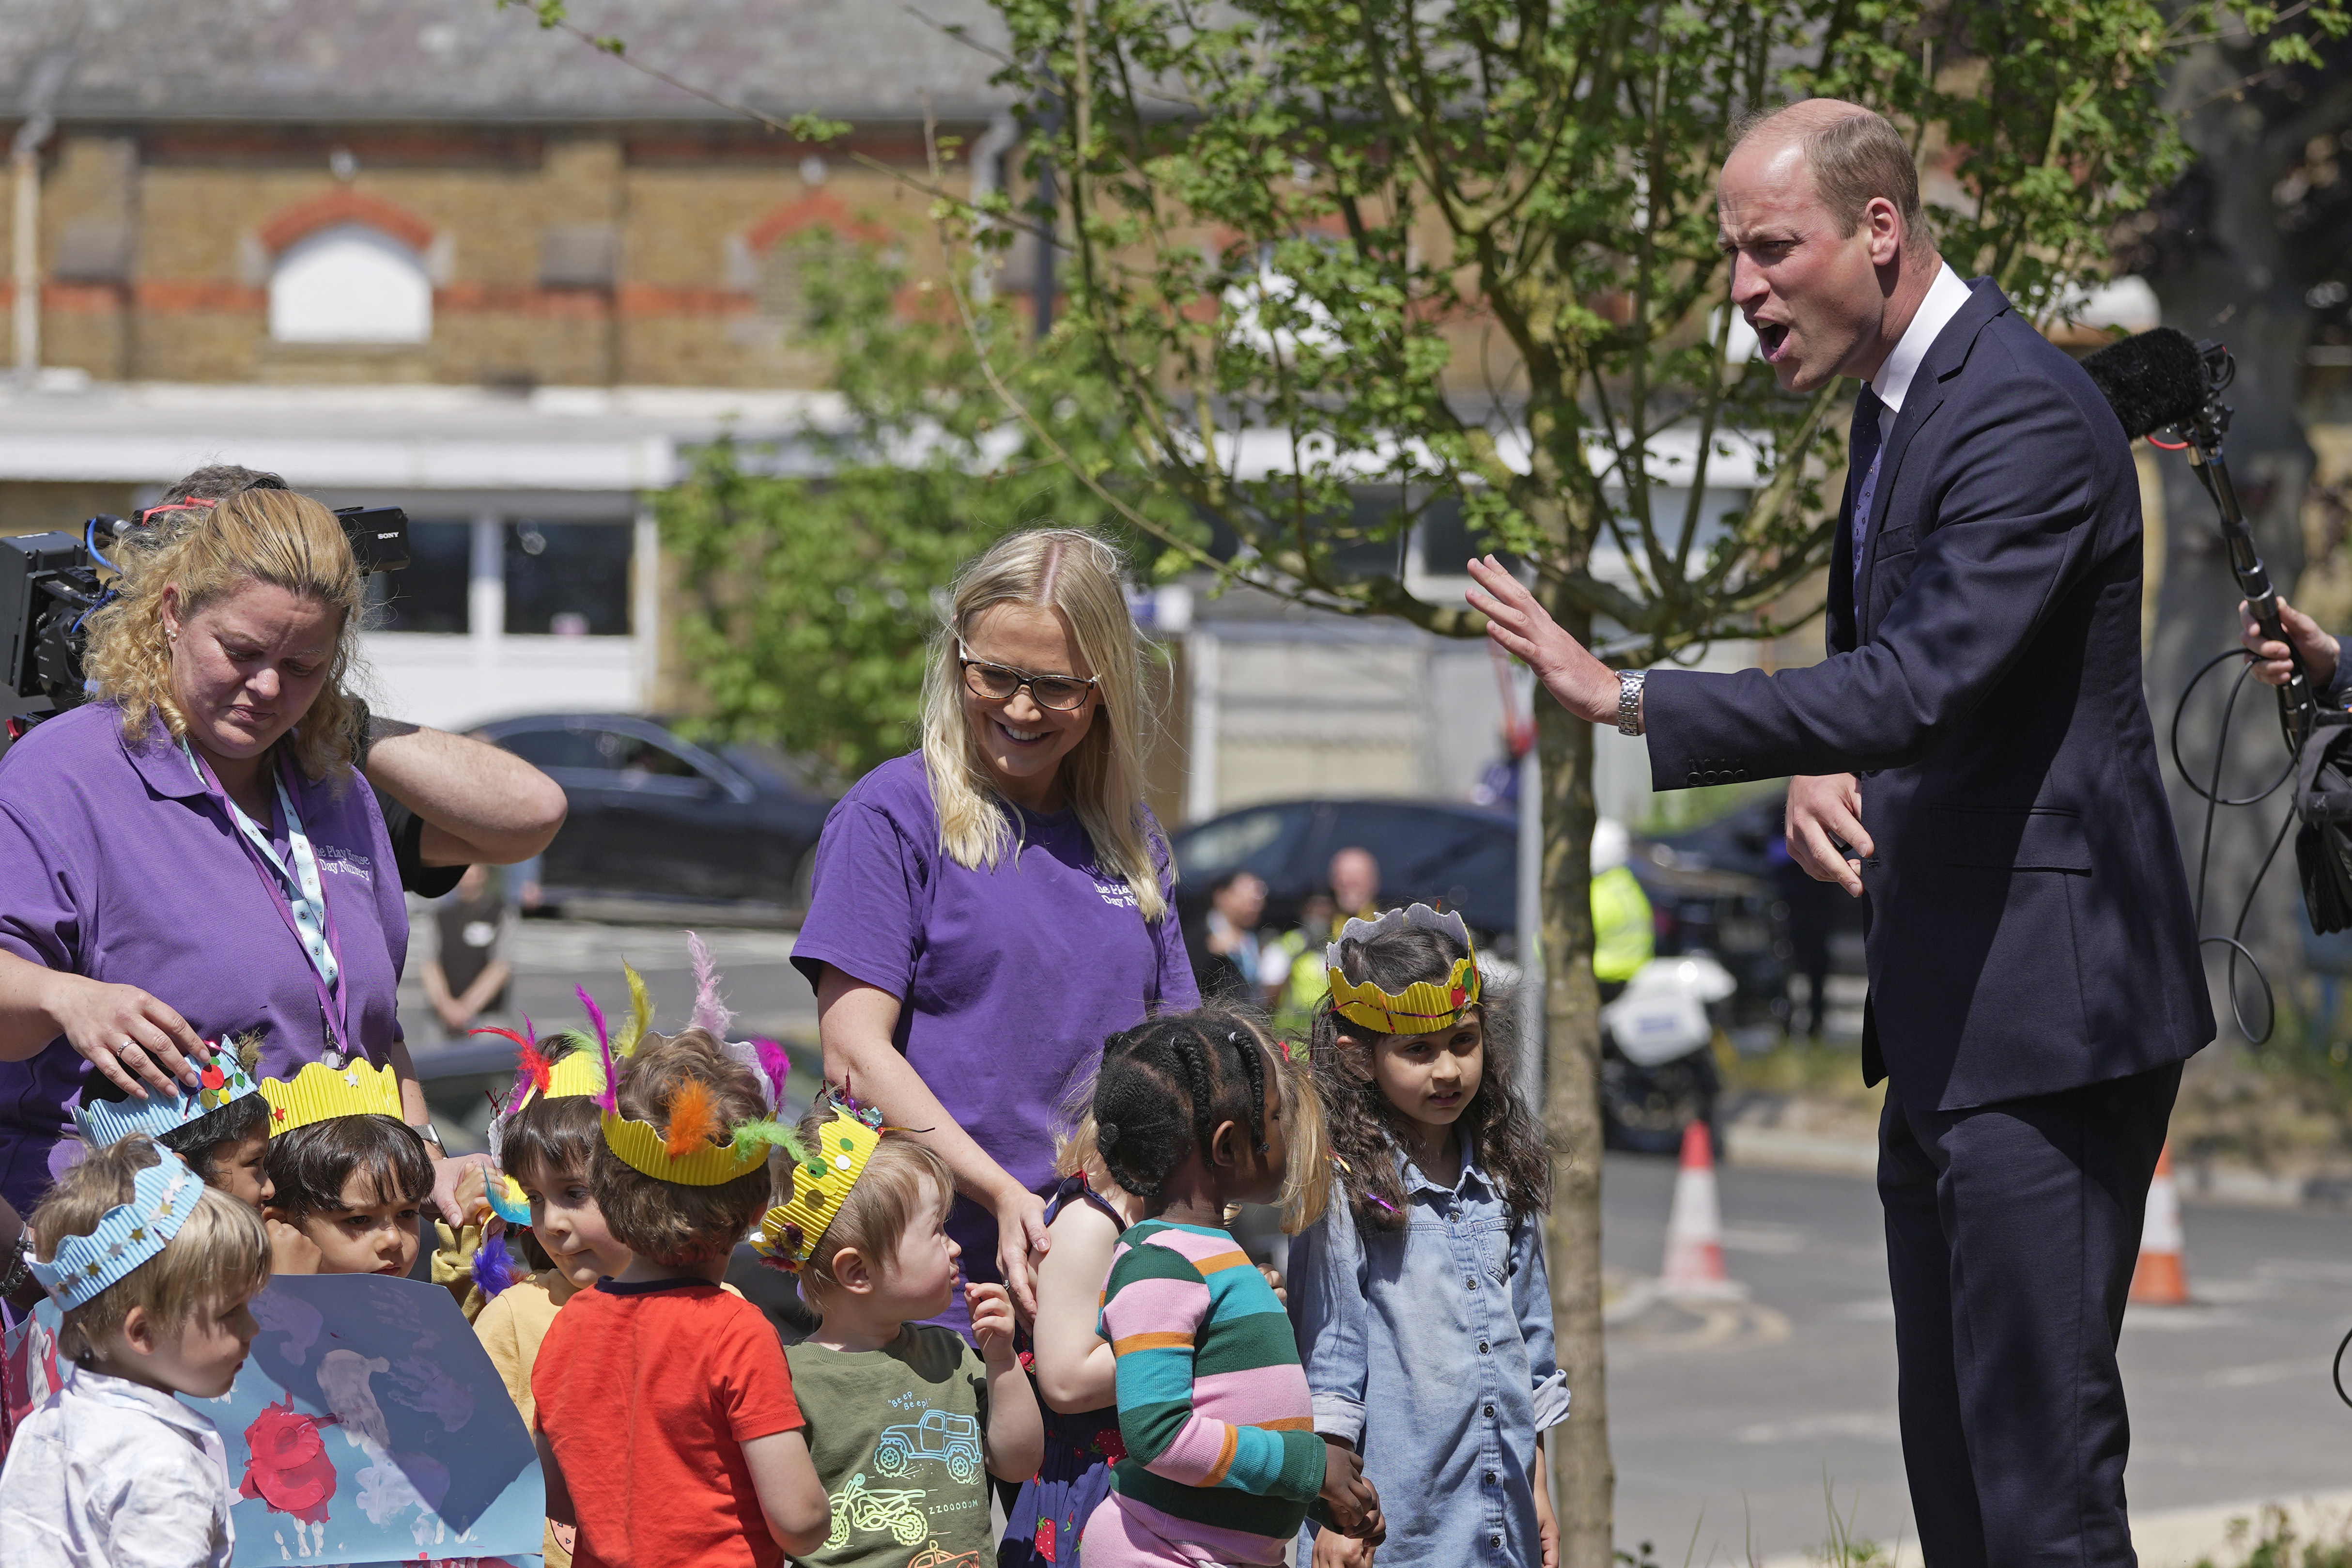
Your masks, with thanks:
M 397 505 L 346 505 L 334 515 L 360 576 L 409 564 L 409 517 Z M 80 536 L 0 538 L 0 717 L 7 719 L 0 752 L 33 724 L 87 701 L 82 628 L 115 597 L 120 576 L 106 548 L 139 527 L 101 515 L 85 522 Z

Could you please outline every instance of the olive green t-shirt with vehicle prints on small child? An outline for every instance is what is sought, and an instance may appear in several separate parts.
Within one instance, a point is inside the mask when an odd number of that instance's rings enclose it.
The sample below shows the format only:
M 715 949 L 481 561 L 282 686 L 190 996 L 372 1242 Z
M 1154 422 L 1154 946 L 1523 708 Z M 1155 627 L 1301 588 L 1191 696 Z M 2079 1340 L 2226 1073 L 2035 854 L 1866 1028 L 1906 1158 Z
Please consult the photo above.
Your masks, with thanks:
M 985 1568 L 988 1366 L 962 1335 L 908 1324 L 882 1349 L 793 1345 L 793 1399 L 833 1505 L 814 1568 Z

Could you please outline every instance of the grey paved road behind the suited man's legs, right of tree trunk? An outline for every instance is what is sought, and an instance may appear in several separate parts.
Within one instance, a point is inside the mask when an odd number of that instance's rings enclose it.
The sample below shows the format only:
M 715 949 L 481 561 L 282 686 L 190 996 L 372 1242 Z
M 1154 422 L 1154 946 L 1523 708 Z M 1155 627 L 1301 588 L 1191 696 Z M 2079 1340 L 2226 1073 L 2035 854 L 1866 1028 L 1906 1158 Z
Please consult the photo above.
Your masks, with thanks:
M 1604 1258 L 1656 1274 L 1675 1171 L 1609 1157 Z M 1820 1544 L 1823 1486 L 1856 1535 L 1910 1535 L 1893 1307 L 1867 1180 L 1726 1168 L 1724 1253 L 1745 1307 L 1651 1309 L 1611 1333 L 1618 1544 L 1668 1568 Z M 2192 1307 L 2133 1307 L 2124 1375 L 2143 1509 L 2352 1483 L 2328 1354 L 2352 1326 L 2352 1218 L 2192 1206 Z

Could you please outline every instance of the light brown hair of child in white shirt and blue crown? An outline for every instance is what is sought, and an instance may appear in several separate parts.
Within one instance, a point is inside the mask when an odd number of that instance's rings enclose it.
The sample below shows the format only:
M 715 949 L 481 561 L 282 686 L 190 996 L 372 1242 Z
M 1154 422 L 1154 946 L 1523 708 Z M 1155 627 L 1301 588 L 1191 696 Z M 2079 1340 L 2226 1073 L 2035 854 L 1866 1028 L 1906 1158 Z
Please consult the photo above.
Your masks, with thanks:
M 155 1145 L 136 1133 L 85 1154 L 33 1211 L 33 1255 L 54 1262 L 68 1237 L 94 1234 L 108 1208 L 132 1201 L 139 1173 L 158 1161 Z M 268 1279 L 270 1234 L 261 1215 L 205 1187 L 158 1255 L 66 1312 L 59 1349 L 75 1361 L 89 1356 L 99 1340 L 122 1328 L 132 1307 L 146 1307 L 158 1333 L 176 1333 L 200 1312 L 254 1295 Z

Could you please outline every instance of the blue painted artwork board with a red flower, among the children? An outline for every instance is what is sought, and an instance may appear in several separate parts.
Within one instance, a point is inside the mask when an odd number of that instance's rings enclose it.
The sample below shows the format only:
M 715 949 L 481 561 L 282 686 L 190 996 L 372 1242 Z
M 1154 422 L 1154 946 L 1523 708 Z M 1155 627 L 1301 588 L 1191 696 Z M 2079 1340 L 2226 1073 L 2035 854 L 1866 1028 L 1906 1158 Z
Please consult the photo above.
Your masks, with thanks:
M 499 1371 L 449 1291 L 278 1274 L 235 1387 L 186 1399 L 228 1448 L 233 1568 L 539 1568 L 546 1486 Z M 56 1307 L 7 1335 L 5 1394 L 56 1382 Z

